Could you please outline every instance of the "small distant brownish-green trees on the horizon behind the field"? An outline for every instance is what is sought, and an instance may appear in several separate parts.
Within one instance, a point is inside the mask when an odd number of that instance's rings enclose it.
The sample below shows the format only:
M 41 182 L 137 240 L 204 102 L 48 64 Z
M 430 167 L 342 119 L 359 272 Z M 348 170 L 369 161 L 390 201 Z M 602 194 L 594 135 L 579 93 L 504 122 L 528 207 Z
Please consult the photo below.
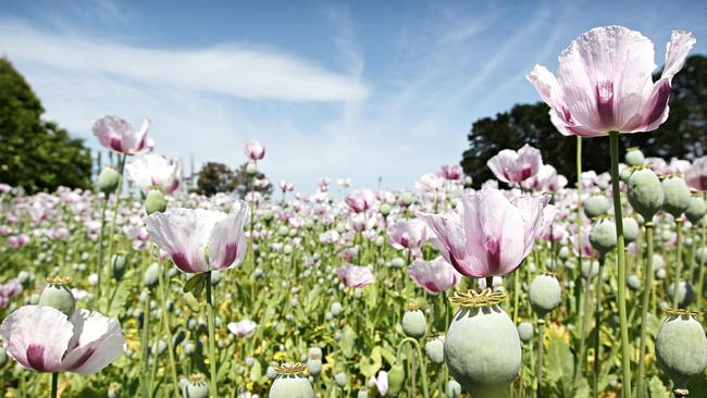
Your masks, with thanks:
M 207 196 L 218 192 L 234 192 L 239 198 L 243 198 L 253 189 L 256 178 L 265 179 L 265 175 L 260 172 L 255 176 L 248 175 L 246 167 L 247 163 L 244 163 L 238 166 L 238 170 L 233 171 L 223 163 L 208 162 L 199 171 L 196 191 Z M 255 190 L 263 195 L 270 195 L 272 185 L 266 187 L 255 186 Z

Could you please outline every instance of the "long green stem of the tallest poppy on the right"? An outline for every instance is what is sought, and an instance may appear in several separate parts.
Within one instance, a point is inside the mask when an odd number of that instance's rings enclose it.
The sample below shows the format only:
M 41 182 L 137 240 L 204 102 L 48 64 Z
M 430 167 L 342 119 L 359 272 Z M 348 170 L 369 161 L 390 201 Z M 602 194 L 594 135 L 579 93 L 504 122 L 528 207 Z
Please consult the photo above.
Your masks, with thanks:
M 619 186 L 619 132 L 609 133 L 611 146 L 611 190 L 613 196 L 613 215 L 617 232 L 617 262 L 619 272 L 619 321 L 621 324 L 621 396 L 631 398 L 631 345 L 627 323 L 627 260 L 623 242 L 623 212 L 621 209 L 621 189 Z

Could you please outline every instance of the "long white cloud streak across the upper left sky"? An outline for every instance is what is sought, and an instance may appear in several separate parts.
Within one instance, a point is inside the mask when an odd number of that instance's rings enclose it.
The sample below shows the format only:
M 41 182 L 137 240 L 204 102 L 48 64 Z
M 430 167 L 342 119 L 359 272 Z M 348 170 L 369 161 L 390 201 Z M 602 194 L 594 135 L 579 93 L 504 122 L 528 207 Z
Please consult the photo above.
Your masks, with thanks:
M 278 51 L 239 45 L 148 49 L 0 23 L 0 50 L 25 64 L 246 99 L 348 101 L 368 95 L 356 76 L 328 72 Z

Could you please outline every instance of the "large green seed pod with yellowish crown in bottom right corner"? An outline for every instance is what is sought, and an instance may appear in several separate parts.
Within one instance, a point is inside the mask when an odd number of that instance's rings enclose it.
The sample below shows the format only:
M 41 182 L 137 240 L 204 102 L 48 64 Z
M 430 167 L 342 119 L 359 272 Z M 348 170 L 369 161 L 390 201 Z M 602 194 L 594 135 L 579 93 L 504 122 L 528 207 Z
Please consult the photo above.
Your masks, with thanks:
M 705 329 L 691 314 L 670 314 L 656 336 L 656 358 L 675 389 L 686 389 L 707 366 Z

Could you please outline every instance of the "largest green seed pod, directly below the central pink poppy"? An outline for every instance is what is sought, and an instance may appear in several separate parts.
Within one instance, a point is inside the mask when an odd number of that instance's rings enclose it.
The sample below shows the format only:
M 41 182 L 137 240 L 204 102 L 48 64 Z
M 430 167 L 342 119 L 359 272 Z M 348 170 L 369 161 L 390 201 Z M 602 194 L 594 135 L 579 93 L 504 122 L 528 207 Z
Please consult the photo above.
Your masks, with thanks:
M 495 303 L 461 307 L 447 332 L 445 362 L 472 397 L 503 397 L 521 366 L 518 329 Z

